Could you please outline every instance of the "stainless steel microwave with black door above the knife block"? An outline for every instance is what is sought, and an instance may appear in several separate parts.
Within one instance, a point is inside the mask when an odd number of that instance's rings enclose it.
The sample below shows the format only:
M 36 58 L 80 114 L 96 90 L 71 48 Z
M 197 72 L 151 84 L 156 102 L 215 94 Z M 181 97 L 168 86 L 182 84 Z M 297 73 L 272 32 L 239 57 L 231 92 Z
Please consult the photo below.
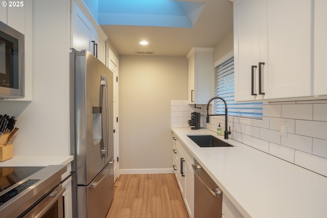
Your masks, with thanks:
M 25 36 L 0 21 L 0 99 L 25 96 Z

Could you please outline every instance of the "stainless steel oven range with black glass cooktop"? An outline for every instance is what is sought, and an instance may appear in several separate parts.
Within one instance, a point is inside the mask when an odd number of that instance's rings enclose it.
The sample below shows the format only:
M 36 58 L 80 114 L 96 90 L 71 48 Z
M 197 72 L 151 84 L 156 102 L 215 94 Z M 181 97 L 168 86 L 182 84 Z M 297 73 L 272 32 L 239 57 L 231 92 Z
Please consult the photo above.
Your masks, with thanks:
M 63 218 L 65 165 L 0 168 L 1 217 Z

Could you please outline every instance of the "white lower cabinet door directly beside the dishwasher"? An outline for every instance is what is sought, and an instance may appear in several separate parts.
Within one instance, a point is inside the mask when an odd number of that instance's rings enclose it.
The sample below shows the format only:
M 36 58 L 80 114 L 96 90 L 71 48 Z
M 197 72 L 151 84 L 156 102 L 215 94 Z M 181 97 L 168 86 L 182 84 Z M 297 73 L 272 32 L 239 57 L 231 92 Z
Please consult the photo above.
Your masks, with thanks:
M 194 217 L 194 172 L 188 161 L 185 161 L 185 197 L 184 202 L 190 218 Z

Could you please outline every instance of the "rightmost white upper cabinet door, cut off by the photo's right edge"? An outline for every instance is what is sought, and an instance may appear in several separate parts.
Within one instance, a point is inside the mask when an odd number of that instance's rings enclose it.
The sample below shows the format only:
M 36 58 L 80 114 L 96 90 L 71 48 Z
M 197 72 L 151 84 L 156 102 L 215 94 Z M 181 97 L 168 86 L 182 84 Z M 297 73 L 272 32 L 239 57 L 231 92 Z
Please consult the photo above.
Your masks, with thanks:
M 315 0 L 314 15 L 314 94 L 327 94 L 327 69 L 325 67 L 327 51 L 327 1 Z

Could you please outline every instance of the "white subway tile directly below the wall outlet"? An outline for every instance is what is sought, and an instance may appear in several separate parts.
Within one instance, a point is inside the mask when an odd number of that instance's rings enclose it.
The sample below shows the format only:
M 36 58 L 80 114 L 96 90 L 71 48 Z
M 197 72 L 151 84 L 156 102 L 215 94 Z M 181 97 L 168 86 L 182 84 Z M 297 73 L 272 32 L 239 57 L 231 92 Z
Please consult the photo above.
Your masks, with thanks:
M 312 138 L 302 135 L 288 134 L 282 136 L 282 146 L 286 146 L 299 151 L 312 153 Z

